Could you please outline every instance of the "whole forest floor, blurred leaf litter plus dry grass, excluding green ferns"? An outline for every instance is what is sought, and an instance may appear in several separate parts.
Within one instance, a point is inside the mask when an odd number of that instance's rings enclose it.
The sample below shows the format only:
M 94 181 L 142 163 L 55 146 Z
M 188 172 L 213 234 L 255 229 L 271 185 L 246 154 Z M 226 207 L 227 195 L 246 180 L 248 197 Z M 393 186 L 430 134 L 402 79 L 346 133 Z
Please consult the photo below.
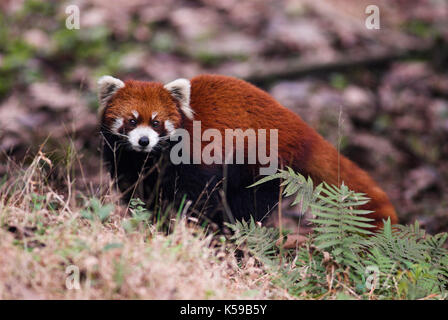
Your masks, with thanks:
M 237 2 L 88 0 L 79 30 L 64 2 L 0 3 L 0 298 L 292 298 L 225 238 L 188 221 L 167 235 L 119 204 L 99 151 L 104 74 L 251 81 L 340 144 L 400 222 L 448 230 L 445 1 L 376 1 L 381 30 L 364 26 L 368 1 Z M 72 265 L 83 290 L 67 289 Z

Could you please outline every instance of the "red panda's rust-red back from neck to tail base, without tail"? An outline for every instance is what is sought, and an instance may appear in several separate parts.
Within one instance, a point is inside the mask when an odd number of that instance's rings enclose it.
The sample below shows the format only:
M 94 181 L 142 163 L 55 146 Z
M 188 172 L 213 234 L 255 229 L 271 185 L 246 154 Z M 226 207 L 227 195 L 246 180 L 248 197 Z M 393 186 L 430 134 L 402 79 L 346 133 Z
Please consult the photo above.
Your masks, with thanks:
M 279 156 L 303 167 L 310 148 L 320 137 L 298 115 L 250 83 L 221 75 L 200 75 L 191 80 L 191 107 L 202 130 L 278 130 Z M 269 145 L 269 136 L 267 137 Z

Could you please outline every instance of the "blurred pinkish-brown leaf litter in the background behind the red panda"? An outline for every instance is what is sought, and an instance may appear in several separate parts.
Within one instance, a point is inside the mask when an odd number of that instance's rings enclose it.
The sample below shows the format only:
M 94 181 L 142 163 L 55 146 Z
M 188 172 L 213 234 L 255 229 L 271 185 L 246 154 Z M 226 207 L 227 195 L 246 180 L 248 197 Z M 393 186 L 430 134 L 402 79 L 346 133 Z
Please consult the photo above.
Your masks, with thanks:
M 334 145 L 341 132 L 401 222 L 448 230 L 446 0 L 1 0 L 0 176 L 76 150 L 80 188 L 97 188 L 97 79 L 200 73 L 258 85 Z

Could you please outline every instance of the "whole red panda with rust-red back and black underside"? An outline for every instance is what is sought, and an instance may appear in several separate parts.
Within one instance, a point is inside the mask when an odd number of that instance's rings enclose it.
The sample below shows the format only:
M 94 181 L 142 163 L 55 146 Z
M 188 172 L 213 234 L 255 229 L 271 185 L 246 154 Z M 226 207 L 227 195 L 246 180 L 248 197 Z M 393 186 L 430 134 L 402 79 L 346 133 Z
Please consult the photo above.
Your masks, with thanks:
M 220 222 L 250 216 L 260 221 L 269 215 L 278 201 L 278 181 L 247 188 L 259 178 L 258 158 L 252 164 L 232 165 L 170 159 L 171 137 L 179 129 L 194 135 L 194 121 L 200 121 L 202 130 L 223 134 L 226 129 L 278 130 L 279 163 L 311 176 L 315 183 L 344 182 L 365 193 L 371 200 L 363 209 L 373 211 L 369 217 L 378 228 L 383 219 L 398 222 L 387 195 L 365 171 L 294 112 L 243 80 L 200 75 L 163 85 L 104 76 L 98 84 L 104 158 L 127 200 L 138 196 L 149 204 L 186 196 L 200 204 L 192 210 Z M 205 145 L 202 141 L 201 150 Z

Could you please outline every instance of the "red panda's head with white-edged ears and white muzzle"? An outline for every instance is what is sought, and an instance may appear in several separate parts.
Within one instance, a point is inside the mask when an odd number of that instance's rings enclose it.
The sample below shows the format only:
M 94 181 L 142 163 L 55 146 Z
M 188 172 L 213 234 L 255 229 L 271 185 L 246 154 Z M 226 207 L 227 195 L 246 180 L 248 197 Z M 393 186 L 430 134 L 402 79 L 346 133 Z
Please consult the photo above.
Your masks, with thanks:
M 151 152 L 180 127 L 182 113 L 193 119 L 190 81 L 123 82 L 103 76 L 99 85 L 99 116 L 103 130 L 120 137 L 135 151 Z

